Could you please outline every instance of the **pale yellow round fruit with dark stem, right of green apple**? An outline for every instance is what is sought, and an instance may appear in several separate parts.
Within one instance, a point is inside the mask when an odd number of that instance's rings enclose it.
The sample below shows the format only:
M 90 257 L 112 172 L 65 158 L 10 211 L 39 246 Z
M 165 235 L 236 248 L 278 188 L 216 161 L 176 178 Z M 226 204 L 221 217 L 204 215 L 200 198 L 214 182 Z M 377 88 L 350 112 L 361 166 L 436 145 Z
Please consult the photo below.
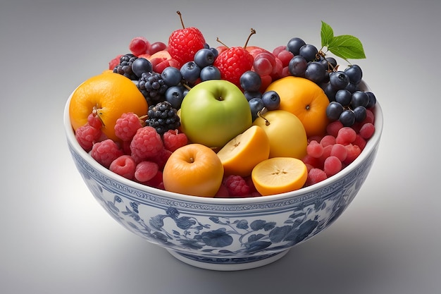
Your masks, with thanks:
M 254 120 L 266 132 L 270 140 L 271 157 L 294 157 L 306 155 L 308 138 L 302 121 L 290 111 L 271 110 Z

